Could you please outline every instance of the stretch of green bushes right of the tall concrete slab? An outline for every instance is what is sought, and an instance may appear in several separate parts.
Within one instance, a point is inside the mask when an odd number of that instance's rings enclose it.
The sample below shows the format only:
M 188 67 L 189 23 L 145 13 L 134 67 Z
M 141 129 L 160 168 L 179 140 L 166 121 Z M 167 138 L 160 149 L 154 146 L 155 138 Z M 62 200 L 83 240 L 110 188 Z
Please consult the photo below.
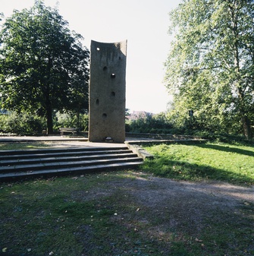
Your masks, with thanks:
M 158 115 L 140 116 L 136 120 L 127 120 L 126 131 L 133 133 L 155 134 L 186 134 L 204 137 L 238 136 L 243 137 L 244 131 L 240 122 L 234 119 L 213 119 L 204 115 L 192 116 L 189 112 L 181 113 L 172 109 Z

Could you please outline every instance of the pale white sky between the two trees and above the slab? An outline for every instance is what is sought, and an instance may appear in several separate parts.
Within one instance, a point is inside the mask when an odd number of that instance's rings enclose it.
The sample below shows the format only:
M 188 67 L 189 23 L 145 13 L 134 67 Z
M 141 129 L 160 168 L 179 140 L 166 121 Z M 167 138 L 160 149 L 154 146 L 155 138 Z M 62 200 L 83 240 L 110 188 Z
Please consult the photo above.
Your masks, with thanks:
M 83 45 L 91 40 L 114 43 L 127 40 L 126 107 L 133 111 L 165 112 L 171 96 L 163 79 L 170 49 L 168 13 L 180 0 L 45 0 L 58 6 L 70 30 L 80 33 Z M 0 0 L 0 12 L 30 8 L 34 0 Z

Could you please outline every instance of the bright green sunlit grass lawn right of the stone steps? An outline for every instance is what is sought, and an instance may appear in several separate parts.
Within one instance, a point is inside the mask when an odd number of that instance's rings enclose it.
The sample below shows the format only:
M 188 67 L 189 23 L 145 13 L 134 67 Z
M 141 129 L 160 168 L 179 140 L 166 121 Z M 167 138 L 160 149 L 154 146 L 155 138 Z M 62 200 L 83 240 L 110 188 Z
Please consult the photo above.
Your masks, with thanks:
M 145 147 L 155 156 L 142 169 L 155 175 L 198 182 L 254 184 L 254 147 L 230 144 L 162 144 Z

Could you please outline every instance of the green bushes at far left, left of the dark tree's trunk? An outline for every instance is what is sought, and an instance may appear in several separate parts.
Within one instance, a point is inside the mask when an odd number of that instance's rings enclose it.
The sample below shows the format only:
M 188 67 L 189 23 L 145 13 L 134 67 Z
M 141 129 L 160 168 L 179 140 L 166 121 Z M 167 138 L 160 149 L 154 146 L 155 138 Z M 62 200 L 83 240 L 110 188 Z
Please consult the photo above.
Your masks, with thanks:
M 45 119 L 30 113 L 0 115 L 0 131 L 14 134 L 41 134 L 46 128 Z

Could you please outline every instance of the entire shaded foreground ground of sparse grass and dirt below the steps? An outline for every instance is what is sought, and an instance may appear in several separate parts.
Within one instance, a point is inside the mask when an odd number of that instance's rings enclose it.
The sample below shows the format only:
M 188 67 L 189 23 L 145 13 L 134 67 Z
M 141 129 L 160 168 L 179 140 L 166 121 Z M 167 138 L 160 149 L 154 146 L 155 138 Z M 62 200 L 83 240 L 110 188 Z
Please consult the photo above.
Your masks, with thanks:
M 0 249 L 12 256 L 254 254 L 254 187 L 134 171 L 0 187 Z

